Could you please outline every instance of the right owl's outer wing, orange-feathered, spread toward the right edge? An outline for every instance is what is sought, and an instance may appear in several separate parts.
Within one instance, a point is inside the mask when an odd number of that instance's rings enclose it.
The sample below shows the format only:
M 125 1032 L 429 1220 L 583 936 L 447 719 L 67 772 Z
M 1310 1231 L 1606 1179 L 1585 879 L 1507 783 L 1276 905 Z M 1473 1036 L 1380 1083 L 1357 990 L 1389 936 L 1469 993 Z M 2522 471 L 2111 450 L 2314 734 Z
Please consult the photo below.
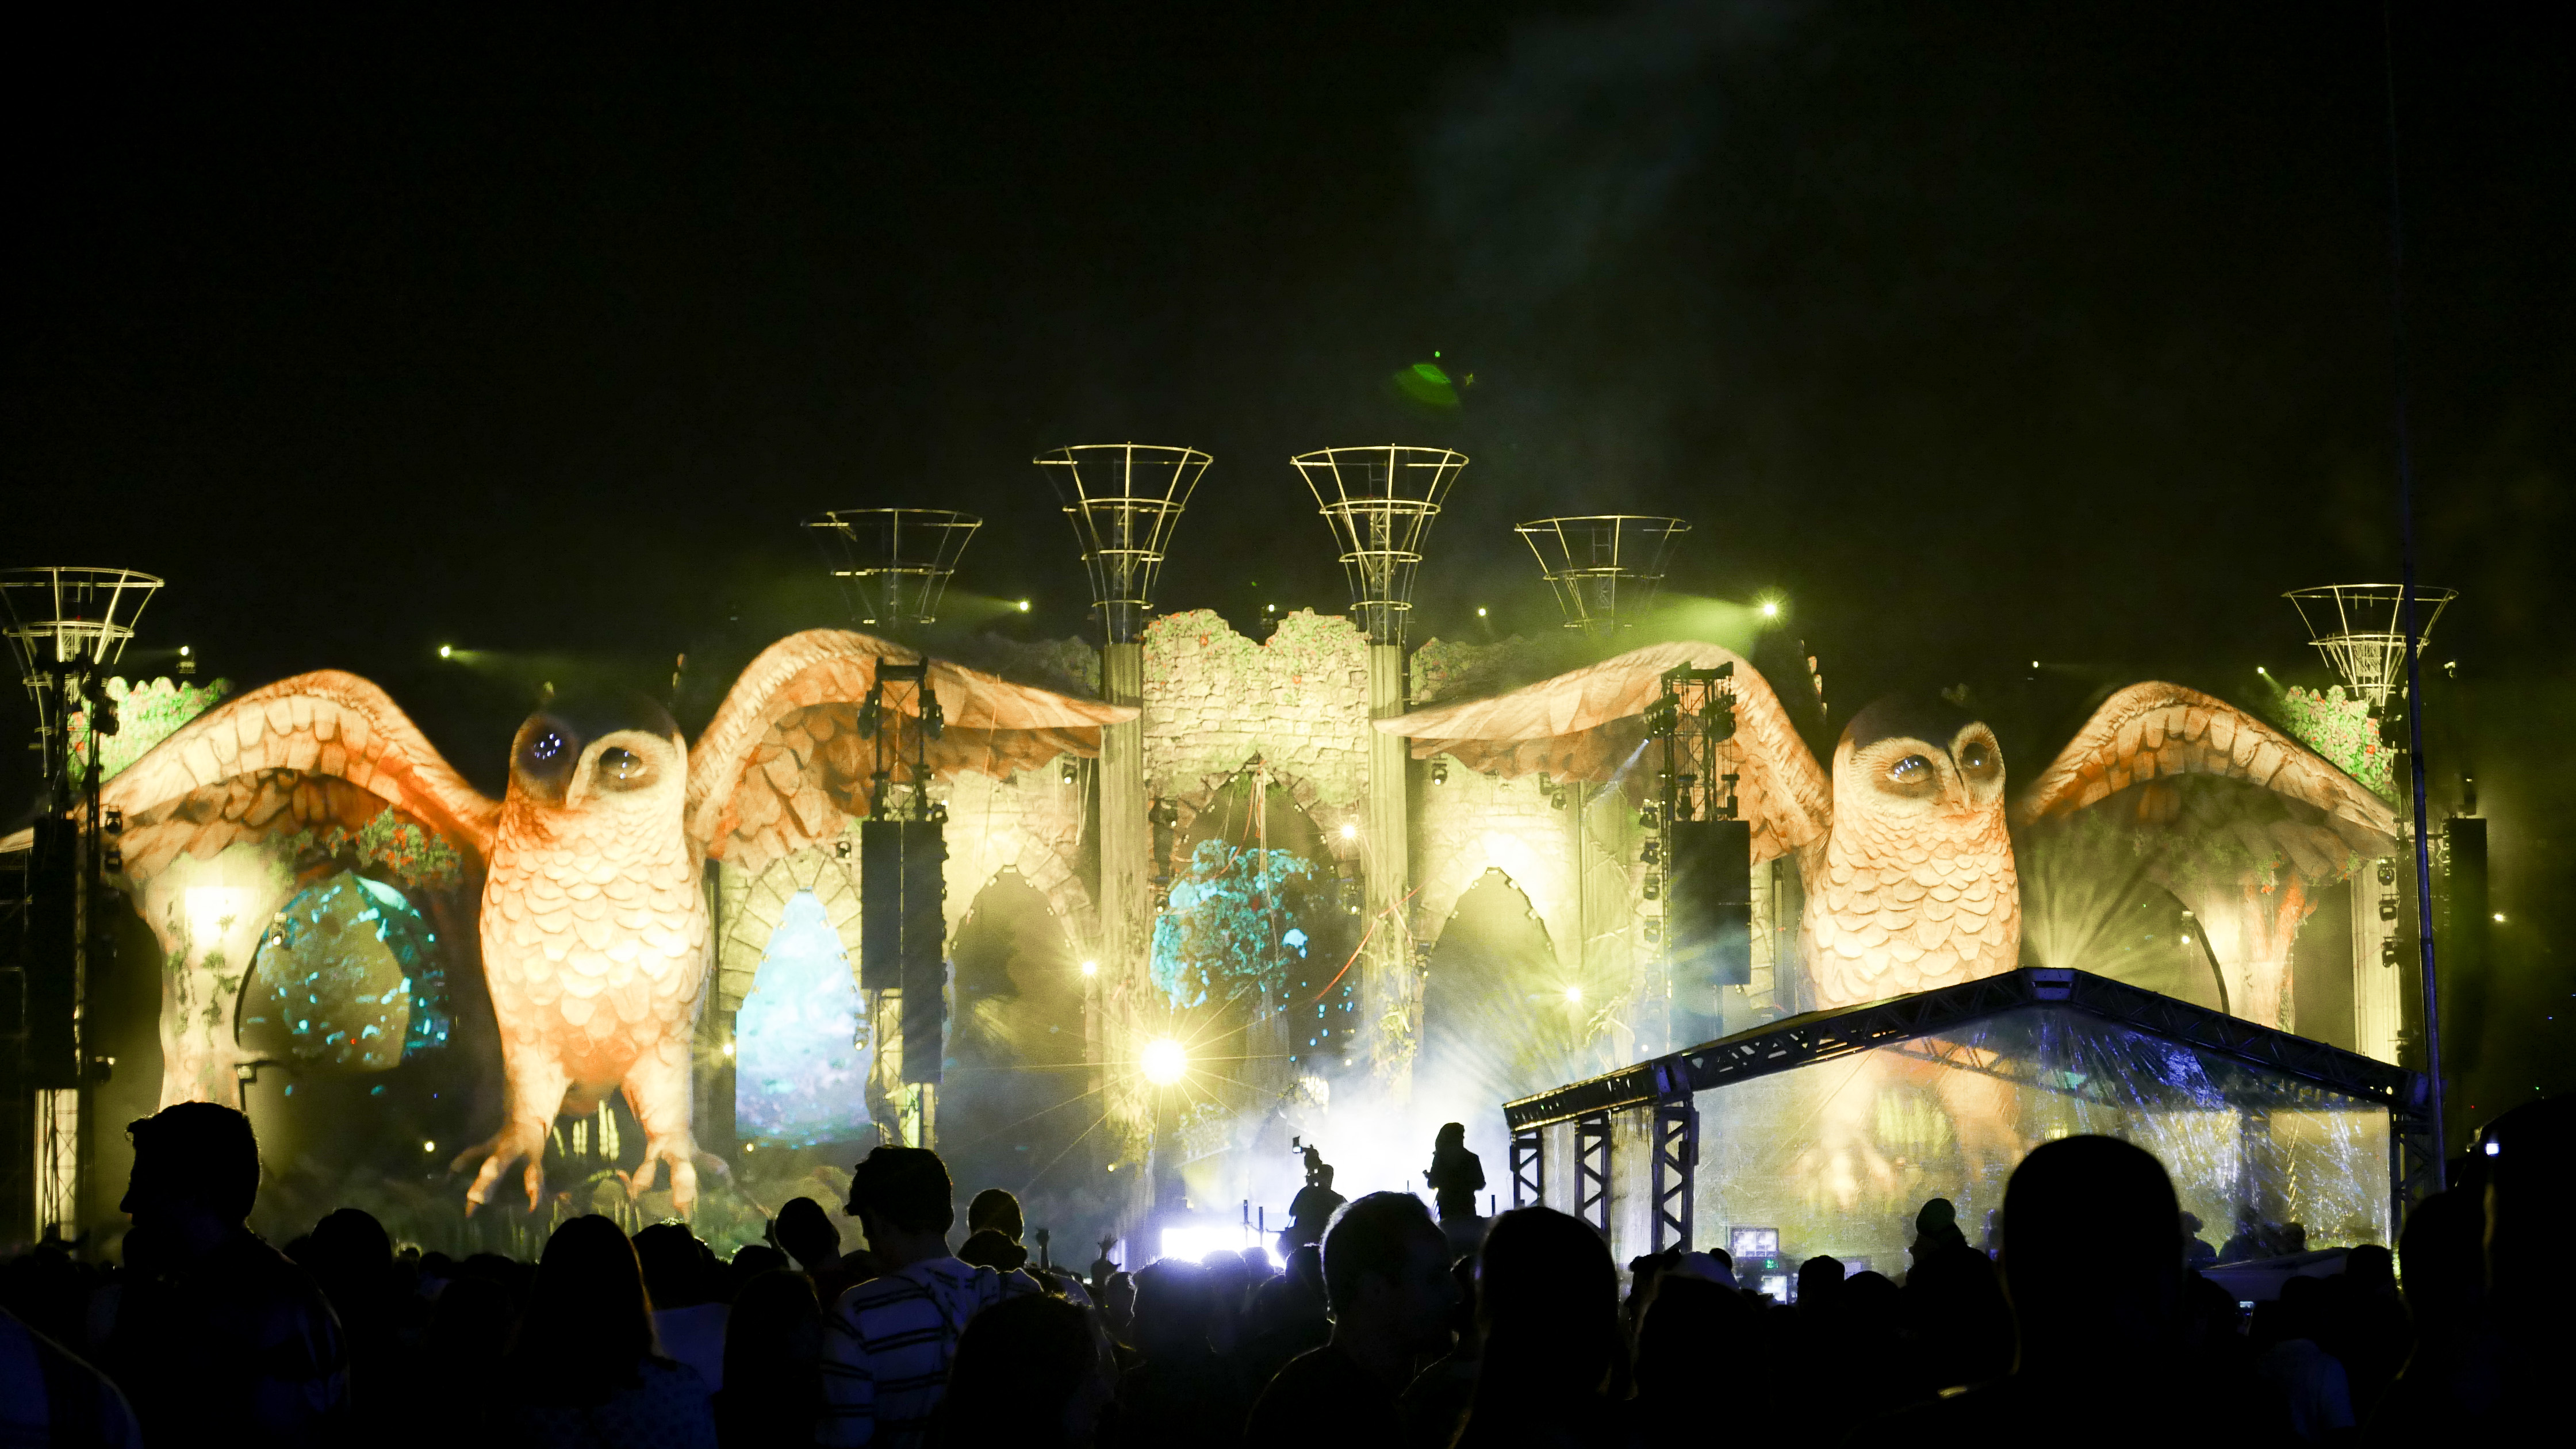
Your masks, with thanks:
M 2025 830 L 2071 817 L 2169 776 L 2269 792 L 2277 820 L 2262 828 L 2308 877 L 2336 874 L 2331 864 L 2347 853 L 2383 856 L 2396 843 L 2396 812 L 2357 779 L 2244 709 L 2161 681 L 2133 683 L 2102 701 L 2014 802 L 2012 825 Z M 2241 799 L 2241 792 L 2218 794 Z M 2128 799 L 2141 825 L 2182 825 L 2179 789 L 2141 789 Z

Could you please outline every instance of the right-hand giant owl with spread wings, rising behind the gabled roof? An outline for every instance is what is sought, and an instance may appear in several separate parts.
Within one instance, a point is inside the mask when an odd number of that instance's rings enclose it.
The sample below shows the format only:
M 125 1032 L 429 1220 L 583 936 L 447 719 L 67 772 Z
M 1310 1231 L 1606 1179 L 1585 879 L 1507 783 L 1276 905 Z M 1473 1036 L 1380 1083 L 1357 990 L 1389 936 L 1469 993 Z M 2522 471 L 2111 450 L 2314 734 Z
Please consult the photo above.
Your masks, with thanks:
M 2241 861 L 2223 890 L 2208 890 L 2210 871 L 2172 869 L 2159 882 L 2213 936 L 2231 936 L 2218 957 L 2228 1008 L 2287 1026 L 2287 938 L 2264 920 L 2277 923 L 2285 892 L 2306 900 L 2306 884 L 2393 848 L 2396 817 L 2362 784 L 2262 719 L 2174 683 L 2112 694 L 2009 804 L 1994 730 L 1937 701 L 1888 699 L 1862 709 L 1844 727 L 1829 776 L 1770 683 L 1716 645 L 1633 650 L 1494 699 L 1383 719 L 1378 730 L 1409 735 L 1414 755 L 1448 753 L 1502 776 L 1610 781 L 1646 743 L 1643 712 L 1662 676 L 1680 665 L 1734 665 L 1736 735 L 1721 750 L 1739 776 L 1754 864 L 1783 853 L 1798 861 L 1801 957 L 1808 1003 L 1819 1008 L 2014 969 L 2022 962 L 2014 835 L 2110 810 L 2156 843 L 2151 869 L 2213 838 Z M 2215 817 L 2184 810 L 2195 799 L 2184 776 L 2228 781 Z

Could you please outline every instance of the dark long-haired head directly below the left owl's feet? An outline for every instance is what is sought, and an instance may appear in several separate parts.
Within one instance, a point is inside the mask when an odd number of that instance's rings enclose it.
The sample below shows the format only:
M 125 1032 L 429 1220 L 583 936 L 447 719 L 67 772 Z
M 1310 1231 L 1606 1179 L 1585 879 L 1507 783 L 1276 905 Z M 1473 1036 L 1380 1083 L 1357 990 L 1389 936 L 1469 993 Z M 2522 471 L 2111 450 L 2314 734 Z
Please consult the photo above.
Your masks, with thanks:
M 510 1356 L 523 1392 L 551 1403 L 603 1403 L 639 1382 L 654 1354 L 652 1299 L 626 1232 L 574 1217 L 546 1238 Z

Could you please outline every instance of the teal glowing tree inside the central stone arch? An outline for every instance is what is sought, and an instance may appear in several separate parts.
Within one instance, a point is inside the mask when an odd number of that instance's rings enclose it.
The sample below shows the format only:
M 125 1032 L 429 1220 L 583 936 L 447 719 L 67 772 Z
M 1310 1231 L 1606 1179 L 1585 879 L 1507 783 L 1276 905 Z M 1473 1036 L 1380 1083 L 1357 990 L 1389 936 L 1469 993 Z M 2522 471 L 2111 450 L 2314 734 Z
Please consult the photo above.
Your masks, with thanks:
M 1154 920 L 1154 985 L 1182 1008 L 1257 987 L 1283 993 L 1288 967 L 1306 957 L 1306 933 L 1293 928 L 1280 892 L 1311 879 L 1303 856 L 1200 841 L 1172 882 L 1172 908 Z

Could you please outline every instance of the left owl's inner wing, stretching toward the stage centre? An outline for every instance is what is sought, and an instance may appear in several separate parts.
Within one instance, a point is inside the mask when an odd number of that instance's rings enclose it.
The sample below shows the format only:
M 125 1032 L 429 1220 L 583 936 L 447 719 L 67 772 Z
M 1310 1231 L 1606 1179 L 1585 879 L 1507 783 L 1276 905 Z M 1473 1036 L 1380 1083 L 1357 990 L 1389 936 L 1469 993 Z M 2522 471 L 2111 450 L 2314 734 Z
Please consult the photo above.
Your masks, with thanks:
M 760 869 L 868 815 L 876 740 L 858 732 L 858 712 L 889 657 L 917 655 L 848 629 L 806 629 L 742 670 L 688 753 L 688 833 L 708 856 Z M 933 779 L 1090 758 L 1103 724 L 1136 717 L 1133 704 L 1072 699 L 943 660 L 930 660 L 930 688 L 945 717 L 925 750 Z M 909 709 L 899 699 L 886 706 Z

